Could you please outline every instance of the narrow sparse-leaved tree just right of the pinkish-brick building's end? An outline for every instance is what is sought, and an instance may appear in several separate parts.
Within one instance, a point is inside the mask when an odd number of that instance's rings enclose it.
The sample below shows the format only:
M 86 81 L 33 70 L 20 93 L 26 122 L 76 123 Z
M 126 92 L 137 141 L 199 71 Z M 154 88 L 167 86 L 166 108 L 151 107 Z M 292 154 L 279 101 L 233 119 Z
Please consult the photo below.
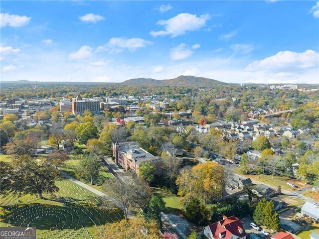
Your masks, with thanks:
M 161 157 L 163 159 L 163 168 L 165 169 L 165 174 L 169 178 L 170 188 L 172 187 L 173 181 L 178 175 L 178 169 L 181 163 L 181 158 L 172 156 L 167 152 L 162 152 Z

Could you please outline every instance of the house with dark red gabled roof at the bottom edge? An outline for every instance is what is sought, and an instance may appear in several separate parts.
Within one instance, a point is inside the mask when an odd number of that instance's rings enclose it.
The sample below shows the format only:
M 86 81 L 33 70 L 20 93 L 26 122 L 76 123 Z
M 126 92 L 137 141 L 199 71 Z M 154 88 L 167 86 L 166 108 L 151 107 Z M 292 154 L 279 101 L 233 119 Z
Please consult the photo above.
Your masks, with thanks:
M 235 216 L 204 227 L 204 235 L 209 239 L 246 239 L 244 223 Z

